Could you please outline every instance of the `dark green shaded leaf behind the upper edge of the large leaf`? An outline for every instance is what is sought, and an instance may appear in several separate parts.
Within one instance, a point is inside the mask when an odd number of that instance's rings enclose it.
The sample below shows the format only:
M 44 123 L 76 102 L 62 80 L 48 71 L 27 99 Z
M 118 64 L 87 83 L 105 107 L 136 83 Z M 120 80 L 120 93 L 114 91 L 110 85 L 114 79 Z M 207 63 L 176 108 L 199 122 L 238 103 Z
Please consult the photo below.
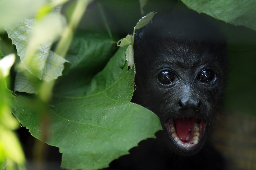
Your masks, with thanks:
M 93 76 L 102 71 L 113 56 L 115 44 L 105 33 L 78 31 L 66 56 L 72 63 L 69 73 L 58 79 L 54 93 L 84 96 Z

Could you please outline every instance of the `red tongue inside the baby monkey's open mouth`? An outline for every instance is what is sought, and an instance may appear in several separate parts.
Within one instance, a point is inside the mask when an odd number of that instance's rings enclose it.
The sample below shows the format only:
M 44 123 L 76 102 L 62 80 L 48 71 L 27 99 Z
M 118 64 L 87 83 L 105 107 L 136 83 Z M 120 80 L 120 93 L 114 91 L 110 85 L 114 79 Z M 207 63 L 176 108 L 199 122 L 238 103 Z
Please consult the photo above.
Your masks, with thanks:
M 188 117 L 183 117 L 181 119 L 175 119 L 176 124 L 176 132 L 177 136 L 182 141 L 186 141 L 186 138 L 189 133 L 189 129 L 191 128 L 191 121 Z

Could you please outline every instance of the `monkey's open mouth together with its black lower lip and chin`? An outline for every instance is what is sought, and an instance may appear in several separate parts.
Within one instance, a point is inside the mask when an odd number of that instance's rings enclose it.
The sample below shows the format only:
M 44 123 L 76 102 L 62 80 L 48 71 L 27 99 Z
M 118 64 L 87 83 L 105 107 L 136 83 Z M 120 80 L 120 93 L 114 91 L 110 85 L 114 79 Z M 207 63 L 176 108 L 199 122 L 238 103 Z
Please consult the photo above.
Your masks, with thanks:
M 181 154 L 197 153 L 206 139 L 207 124 L 196 117 L 181 117 L 165 123 L 170 140 Z

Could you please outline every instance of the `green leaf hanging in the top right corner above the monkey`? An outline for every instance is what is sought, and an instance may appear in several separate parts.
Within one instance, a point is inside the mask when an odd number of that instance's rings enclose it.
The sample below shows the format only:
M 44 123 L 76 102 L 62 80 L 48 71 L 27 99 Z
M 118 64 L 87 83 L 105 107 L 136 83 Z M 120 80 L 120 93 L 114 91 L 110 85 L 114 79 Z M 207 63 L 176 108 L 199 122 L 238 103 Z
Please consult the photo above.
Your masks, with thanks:
M 181 0 L 189 8 L 198 13 L 205 13 L 216 19 L 233 25 L 243 25 L 256 30 L 256 1 L 243 1 L 238 3 L 233 0 Z

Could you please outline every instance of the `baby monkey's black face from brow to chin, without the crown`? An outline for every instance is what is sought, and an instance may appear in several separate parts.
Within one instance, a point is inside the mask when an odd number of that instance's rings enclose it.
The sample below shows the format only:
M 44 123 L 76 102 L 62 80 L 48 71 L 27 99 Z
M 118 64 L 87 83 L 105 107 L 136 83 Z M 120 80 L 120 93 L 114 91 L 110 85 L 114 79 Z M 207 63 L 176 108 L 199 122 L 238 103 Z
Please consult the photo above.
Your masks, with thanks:
M 158 51 L 147 64 L 135 60 L 136 68 L 140 68 L 136 71 L 134 97 L 136 103 L 158 115 L 167 145 L 180 154 L 191 155 L 206 140 L 224 86 L 223 71 L 216 53 L 210 50 L 188 50 L 178 56 L 172 50 Z M 151 54 L 155 55 L 153 51 Z

